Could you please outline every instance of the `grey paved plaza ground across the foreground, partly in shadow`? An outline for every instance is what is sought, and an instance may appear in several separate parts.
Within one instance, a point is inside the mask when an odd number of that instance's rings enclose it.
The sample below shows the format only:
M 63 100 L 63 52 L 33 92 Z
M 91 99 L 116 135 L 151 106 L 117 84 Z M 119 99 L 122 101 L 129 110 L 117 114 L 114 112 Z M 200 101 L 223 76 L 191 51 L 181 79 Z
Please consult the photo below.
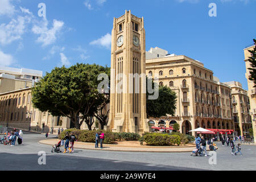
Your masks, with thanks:
M 55 138 L 49 136 L 49 139 Z M 40 144 L 44 135 L 24 133 L 22 146 L 0 145 L 0 170 L 256 170 L 256 146 L 242 145 L 240 156 L 217 142 L 217 164 L 210 156 L 190 156 L 191 152 L 121 152 L 76 149 L 73 154 L 51 153 L 51 146 Z M 76 146 L 75 146 L 76 147 Z M 38 164 L 38 152 L 46 152 L 46 165 Z M 22 166 L 22 168 L 21 168 Z

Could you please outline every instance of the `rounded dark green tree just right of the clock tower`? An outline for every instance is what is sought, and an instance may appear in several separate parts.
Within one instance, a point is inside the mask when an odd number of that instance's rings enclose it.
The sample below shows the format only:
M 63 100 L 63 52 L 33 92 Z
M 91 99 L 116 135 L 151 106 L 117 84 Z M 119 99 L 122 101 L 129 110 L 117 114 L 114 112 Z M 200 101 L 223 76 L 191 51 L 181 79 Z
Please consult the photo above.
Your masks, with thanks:
M 150 94 L 147 92 L 147 118 L 160 118 L 167 116 L 167 114 L 174 114 L 177 97 L 176 93 L 168 86 L 159 86 L 159 97 L 156 100 L 148 100 L 148 96 L 150 96 Z

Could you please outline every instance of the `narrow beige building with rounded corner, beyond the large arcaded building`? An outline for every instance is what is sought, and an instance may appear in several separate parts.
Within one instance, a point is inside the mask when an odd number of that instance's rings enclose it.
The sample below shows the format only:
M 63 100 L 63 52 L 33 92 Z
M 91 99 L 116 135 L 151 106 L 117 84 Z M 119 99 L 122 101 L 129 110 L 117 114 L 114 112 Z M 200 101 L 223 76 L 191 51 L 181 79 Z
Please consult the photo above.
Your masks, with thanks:
M 247 90 L 243 89 L 242 84 L 237 81 L 229 81 L 225 84 L 232 88 L 233 119 L 237 135 L 248 134 L 252 125 Z

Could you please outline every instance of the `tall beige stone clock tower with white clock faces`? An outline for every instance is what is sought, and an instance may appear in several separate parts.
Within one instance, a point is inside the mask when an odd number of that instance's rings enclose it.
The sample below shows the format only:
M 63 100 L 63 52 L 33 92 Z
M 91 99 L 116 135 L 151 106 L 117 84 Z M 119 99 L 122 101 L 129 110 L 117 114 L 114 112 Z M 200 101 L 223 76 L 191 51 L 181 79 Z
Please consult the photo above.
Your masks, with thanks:
M 110 113 L 106 130 L 144 133 L 146 115 L 146 47 L 143 17 L 125 11 L 114 18 L 111 48 Z

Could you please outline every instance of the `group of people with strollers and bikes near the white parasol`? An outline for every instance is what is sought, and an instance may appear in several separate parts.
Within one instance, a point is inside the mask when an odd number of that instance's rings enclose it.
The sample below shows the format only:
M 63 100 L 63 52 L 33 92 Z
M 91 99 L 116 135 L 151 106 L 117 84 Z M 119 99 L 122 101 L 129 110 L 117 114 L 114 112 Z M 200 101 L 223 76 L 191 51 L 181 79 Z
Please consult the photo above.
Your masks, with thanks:
M 232 149 L 232 152 L 231 154 L 232 155 L 237 155 L 238 153 L 240 155 L 242 155 L 242 152 L 241 152 L 241 143 L 242 143 L 242 137 L 239 136 L 239 137 L 235 137 L 234 139 L 232 137 L 224 137 L 224 135 L 221 135 L 220 137 L 220 140 L 221 140 L 221 143 L 222 143 L 222 146 L 225 146 L 225 143 L 226 143 L 226 146 L 229 146 L 230 144 L 230 147 Z M 237 146 L 235 145 L 235 142 L 236 140 L 240 140 L 241 143 L 238 143 Z M 207 156 L 207 143 L 209 145 L 213 144 L 213 141 L 217 141 L 217 137 L 212 137 L 212 138 L 207 138 L 205 139 L 204 137 L 199 137 L 199 135 L 197 135 L 196 139 L 195 139 L 195 143 L 196 143 L 196 150 L 195 151 L 201 151 L 200 152 L 200 156 L 203 156 L 204 155 L 204 152 L 205 152 L 205 156 Z M 237 150 L 236 150 L 237 148 Z

